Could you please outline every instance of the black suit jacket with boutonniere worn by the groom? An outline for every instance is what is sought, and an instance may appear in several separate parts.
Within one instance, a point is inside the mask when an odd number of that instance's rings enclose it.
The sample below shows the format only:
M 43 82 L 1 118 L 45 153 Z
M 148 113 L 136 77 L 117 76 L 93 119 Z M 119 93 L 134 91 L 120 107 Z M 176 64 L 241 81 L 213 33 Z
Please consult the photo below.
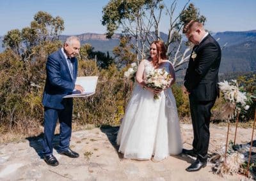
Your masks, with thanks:
M 197 101 L 211 101 L 220 94 L 218 72 L 221 61 L 220 45 L 210 34 L 192 50 L 196 58 L 190 56 L 184 86 Z M 192 55 L 192 54 L 191 54 Z

